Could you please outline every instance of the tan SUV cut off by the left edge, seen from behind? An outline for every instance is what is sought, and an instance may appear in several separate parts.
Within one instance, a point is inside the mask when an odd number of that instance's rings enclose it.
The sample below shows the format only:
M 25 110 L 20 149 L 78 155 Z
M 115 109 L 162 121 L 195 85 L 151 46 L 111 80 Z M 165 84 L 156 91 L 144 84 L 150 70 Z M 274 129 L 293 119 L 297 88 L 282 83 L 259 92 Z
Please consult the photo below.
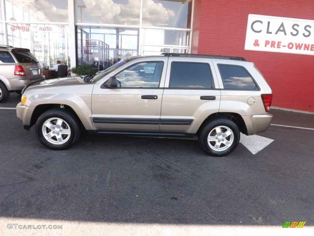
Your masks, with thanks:
M 41 65 L 27 48 L 0 45 L 0 103 L 10 97 L 10 92 L 21 93 L 34 82 L 42 81 Z

